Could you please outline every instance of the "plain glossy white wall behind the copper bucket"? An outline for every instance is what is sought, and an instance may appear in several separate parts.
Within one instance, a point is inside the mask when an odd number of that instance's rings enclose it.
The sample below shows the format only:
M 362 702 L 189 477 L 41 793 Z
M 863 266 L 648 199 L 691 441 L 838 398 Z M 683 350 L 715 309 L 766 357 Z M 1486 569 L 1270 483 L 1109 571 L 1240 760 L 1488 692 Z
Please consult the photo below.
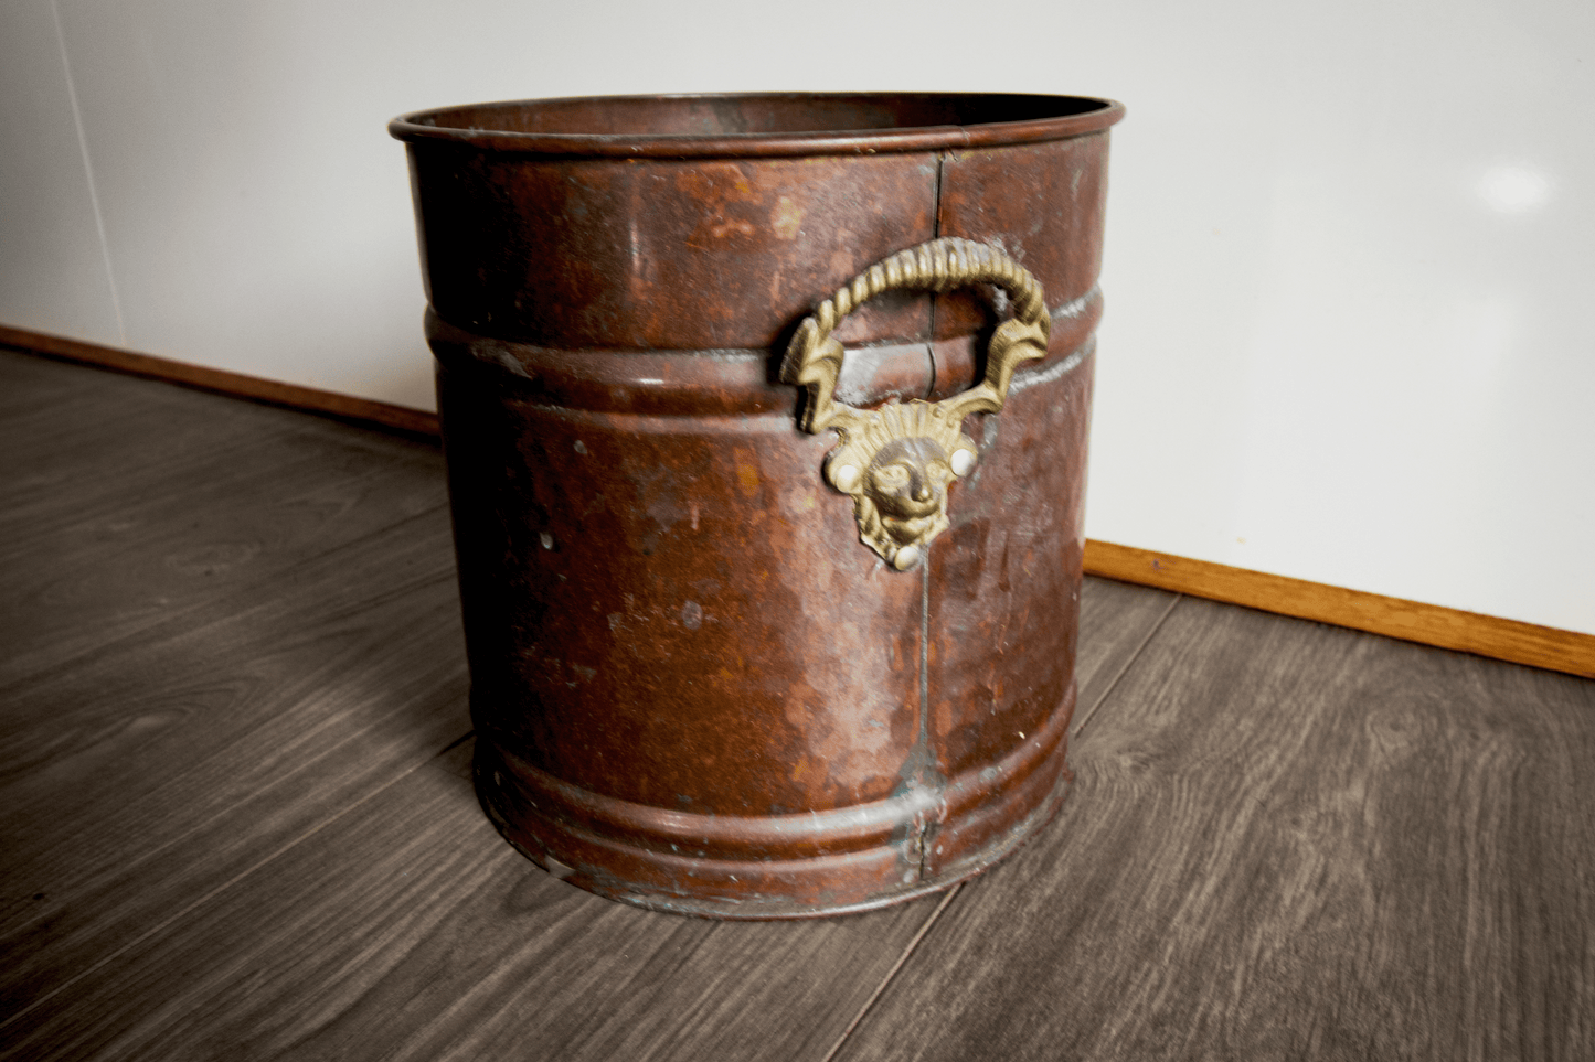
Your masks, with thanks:
M 388 118 L 841 88 L 1128 104 L 1093 537 L 1595 633 L 1589 0 L 6 0 L 0 322 L 429 407 Z

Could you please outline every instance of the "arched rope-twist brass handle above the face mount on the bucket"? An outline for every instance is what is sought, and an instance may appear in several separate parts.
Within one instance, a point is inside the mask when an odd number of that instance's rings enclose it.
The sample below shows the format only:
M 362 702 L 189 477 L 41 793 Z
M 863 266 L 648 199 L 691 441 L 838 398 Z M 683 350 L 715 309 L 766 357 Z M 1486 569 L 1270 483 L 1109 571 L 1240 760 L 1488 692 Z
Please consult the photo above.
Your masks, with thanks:
M 986 352 L 986 378 L 963 394 L 944 399 L 944 415 L 962 419 L 970 413 L 995 413 L 1008 395 L 1013 370 L 1046 354 L 1051 317 L 1042 284 L 1000 247 L 957 236 L 931 239 L 877 262 L 850 284 L 837 289 L 804 319 L 786 348 L 782 378 L 809 387 L 801 427 L 845 431 L 866 416 L 834 400 L 842 372 L 842 344 L 833 336 L 847 314 L 890 290 L 946 292 L 968 284 L 995 284 L 1008 293 L 1013 317 L 997 327 Z

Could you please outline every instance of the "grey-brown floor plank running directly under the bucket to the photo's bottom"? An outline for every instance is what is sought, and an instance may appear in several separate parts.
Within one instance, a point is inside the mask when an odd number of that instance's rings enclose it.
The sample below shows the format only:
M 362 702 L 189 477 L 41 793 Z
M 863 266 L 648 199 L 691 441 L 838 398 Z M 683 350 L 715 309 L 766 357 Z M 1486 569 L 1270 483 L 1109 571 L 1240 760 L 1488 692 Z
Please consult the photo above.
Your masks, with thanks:
M 1120 671 L 1169 601 L 1088 587 L 1085 689 Z M 939 901 L 802 923 L 603 901 L 504 845 L 467 751 L 41 998 L 3 1030 L 18 1057 L 820 1059 Z

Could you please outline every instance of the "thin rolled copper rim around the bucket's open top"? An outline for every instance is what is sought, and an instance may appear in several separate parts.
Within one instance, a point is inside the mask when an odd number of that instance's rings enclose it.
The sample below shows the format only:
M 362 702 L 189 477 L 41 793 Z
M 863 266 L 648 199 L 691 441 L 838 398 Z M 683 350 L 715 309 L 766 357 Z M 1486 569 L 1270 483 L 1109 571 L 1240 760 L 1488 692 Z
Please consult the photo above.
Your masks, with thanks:
M 775 105 L 989 105 L 1024 113 L 1008 121 L 935 123 L 879 128 L 793 129 L 761 132 L 549 132 L 485 128 L 480 118 L 530 107 L 577 110 L 605 105 L 633 108 L 745 104 Z M 1034 115 L 1035 110 L 1057 113 Z M 561 96 L 437 107 L 400 115 L 388 132 L 412 145 L 456 145 L 482 151 L 563 158 L 770 158 L 801 155 L 877 155 L 1008 147 L 1065 140 L 1113 126 L 1124 105 L 1096 96 L 1042 92 L 679 92 L 657 96 Z M 447 123 L 456 124 L 447 124 Z

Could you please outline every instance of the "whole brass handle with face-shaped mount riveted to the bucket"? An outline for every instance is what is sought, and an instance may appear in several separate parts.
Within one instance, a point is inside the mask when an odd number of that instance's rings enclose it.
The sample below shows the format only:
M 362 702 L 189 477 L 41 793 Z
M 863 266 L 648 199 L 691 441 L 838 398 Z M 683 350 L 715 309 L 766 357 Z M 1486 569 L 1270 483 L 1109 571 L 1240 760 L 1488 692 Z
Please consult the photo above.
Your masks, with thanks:
M 842 344 L 831 336 L 853 308 L 893 289 L 946 292 L 995 284 L 1008 292 L 1013 317 L 986 349 L 986 378 L 941 402 L 890 402 L 855 410 L 836 402 Z M 858 539 L 898 571 L 919 563 L 947 529 L 947 485 L 975 467 L 978 450 L 963 434 L 970 413 L 998 413 L 1019 362 L 1046 354 L 1051 317 L 1042 285 L 1000 247 L 944 238 L 900 250 L 869 266 L 804 319 L 786 348 L 782 380 L 809 387 L 799 426 L 834 427 L 841 445 L 825 461 L 825 478 L 853 496 Z

